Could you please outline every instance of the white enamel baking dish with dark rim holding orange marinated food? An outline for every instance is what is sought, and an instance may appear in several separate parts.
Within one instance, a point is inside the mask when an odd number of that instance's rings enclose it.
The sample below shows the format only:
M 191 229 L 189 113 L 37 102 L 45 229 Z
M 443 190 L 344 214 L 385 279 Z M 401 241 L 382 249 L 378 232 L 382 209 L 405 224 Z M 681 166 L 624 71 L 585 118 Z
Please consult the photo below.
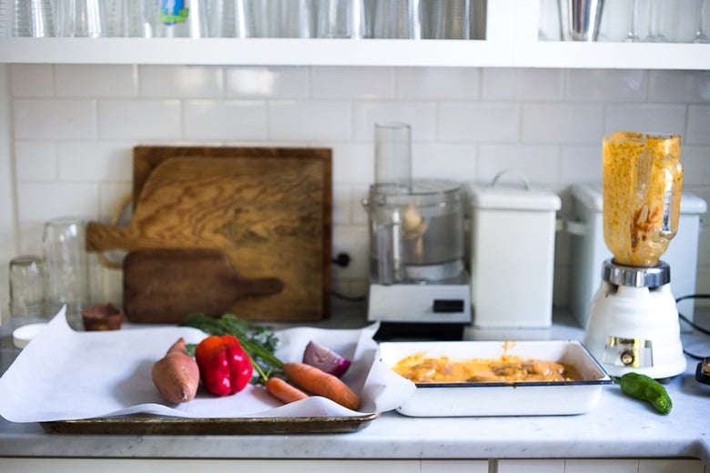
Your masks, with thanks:
M 559 416 L 583 414 L 613 384 L 604 368 L 578 341 L 383 342 L 380 357 L 393 367 L 416 353 L 453 359 L 497 358 L 503 354 L 562 362 L 579 381 L 417 383 L 397 412 L 411 417 Z

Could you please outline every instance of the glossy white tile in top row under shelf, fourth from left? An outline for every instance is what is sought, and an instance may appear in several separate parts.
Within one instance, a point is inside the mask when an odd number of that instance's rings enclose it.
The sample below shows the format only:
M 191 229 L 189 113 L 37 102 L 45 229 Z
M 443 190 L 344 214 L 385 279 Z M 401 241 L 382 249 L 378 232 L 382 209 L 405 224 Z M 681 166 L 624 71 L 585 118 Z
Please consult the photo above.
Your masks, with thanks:
M 228 67 L 228 98 L 292 98 L 310 95 L 309 67 Z

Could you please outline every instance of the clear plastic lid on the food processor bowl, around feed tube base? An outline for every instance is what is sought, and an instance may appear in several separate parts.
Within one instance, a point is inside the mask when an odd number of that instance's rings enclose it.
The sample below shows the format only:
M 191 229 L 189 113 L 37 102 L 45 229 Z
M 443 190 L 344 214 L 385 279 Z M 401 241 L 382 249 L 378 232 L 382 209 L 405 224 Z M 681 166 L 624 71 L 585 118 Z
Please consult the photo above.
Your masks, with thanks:
M 405 189 L 389 184 L 370 185 L 369 202 L 375 206 L 438 206 L 462 201 L 463 186 L 445 179 L 415 179 Z

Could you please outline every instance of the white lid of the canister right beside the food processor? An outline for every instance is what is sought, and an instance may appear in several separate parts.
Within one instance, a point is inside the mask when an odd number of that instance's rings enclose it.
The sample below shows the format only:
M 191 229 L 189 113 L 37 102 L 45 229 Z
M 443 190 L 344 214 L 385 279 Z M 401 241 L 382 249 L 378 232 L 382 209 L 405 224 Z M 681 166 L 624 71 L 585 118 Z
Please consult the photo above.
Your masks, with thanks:
M 560 196 L 552 191 L 520 185 L 478 185 L 469 187 L 472 206 L 502 210 L 559 210 Z

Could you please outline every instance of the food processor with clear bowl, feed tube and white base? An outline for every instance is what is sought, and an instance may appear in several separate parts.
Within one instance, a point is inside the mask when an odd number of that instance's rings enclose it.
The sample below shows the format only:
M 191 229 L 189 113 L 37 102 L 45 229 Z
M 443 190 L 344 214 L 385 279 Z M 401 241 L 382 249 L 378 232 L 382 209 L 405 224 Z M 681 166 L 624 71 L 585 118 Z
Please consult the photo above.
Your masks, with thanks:
M 411 179 L 410 126 L 375 125 L 368 320 L 379 339 L 461 339 L 471 323 L 461 184 Z

